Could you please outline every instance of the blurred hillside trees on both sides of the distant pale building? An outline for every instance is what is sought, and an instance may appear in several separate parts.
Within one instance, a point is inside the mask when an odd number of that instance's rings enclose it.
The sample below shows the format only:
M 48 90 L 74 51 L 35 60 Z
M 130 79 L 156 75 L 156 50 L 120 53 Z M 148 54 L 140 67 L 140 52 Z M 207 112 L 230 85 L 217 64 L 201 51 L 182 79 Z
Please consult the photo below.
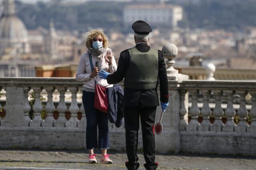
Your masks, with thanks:
M 16 1 L 18 16 L 28 29 L 49 28 L 54 19 L 57 29 L 81 30 L 105 28 L 122 31 L 122 12 L 127 2 L 90 1 L 84 4 L 49 3 L 22 4 Z M 169 0 L 169 4 L 184 8 L 181 27 L 241 30 L 256 26 L 255 0 Z

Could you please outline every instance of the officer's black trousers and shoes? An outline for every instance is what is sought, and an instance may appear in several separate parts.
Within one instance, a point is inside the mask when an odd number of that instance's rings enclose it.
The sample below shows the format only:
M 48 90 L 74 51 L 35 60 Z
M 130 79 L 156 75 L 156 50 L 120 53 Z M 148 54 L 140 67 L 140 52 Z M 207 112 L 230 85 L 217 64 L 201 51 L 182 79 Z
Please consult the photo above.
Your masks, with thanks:
M 138 147 L 138 130 L 141 121 L 144 164 L 146 170 L 155 170 L 155 136 L 154 123 L 156 117 L 156 107 L 124 107 L 124 123 L 126 131 L 126 153 L 128 170 L 136 170 L 139 167 L 137 147 Z

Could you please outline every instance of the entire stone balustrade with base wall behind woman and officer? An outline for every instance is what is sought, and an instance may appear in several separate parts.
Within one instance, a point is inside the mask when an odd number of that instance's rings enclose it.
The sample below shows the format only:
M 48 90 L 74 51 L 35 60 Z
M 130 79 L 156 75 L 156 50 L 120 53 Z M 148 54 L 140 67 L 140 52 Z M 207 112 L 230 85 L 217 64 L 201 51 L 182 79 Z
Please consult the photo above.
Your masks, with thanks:
M 0 77 L 0 103 L 2 112 L 6 111 L 0 121 L 0 148 L 85 148 L 82 85 L 74 78 Z M 32 91 L 35 97 L 31 107 Z M 169 93 L 170 106 L 162 120 L 164 130 L 156 136 L 159 152 L 256 155 L 256 81 L 170 80 Z M 250 103 L 246 102 L 248 94 Z M 32 120 L 28 116 L 31 110 Z M 47 113 L 45 120 L 41 117 L 43 110 Z M 55 120 L 56 111 L 59 114 Z M 160 112 L 158 107 L 156 121 Z M 80 120 L 78 113 L 82 114 Z M 239 117 L 237 125 L 235 116 Z M 198 117 L 203 117 L 201 123 Z M 213 123 L 209 117 L 215 118 Z M 223 117 L 227 120 L 225 124 Z M 124 149 L 124 125 L 116 128 L 109 124 L 109 139 L 110 148 Z

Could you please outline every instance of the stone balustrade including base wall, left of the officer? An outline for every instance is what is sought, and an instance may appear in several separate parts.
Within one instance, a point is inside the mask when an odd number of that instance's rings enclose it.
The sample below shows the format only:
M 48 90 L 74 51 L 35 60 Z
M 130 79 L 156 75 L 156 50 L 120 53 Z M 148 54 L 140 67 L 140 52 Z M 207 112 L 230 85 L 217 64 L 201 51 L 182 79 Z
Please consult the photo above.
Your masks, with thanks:
M 3 136 L 0 148 L 84 148 L 86 117 L 82 86 L 83 83 L 74 78 L 0 77 L 0 113 L 6 112 L 5 117 L 0 117 L 0 136 Z M 31 107 L 32 92 L 35 97 Z M 28 116 L 31 110 L 32 120 Z M 43 110 L 47 113 L 45 120 L 41 117 Z M 54 111 L 58 112 L 56 120 Z M 67 120 L 68 112 L 71 117 Z M 82 113 L 80 120 L 78 112 Z M 109 128 L 110 135 L 114 136 L 110 143 L 122 148 L 124 124 L 120 128 L 109 124 Z M 122 141 L 115 144 L 116 138 Z

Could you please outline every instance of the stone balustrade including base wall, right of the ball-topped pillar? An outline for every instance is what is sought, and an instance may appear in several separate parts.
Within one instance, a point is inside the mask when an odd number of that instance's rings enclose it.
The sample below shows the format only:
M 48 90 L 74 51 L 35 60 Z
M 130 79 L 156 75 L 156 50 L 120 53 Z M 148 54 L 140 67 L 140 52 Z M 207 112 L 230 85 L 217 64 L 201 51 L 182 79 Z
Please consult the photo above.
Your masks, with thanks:
M 256 82 L 255 81 L 182 81 L 181 95 L 189 93 L 192 98 L 190 109 L 186 110 L 184 100 L 180 108 L 180 151 L 218 154 L 256 154 Z M 199 109 L 198 95 L 203 96 L 203 106 Z M 246 95 L 250 95 L 251 104 L 246 105 Z M 210 103 L 210 95 L 214 103 Z M 236 107 L 234 108 L 234 97 Z M 225 100 L 223 100 L 225 98 Z M 210 109 L 213 106 L 213 110 Z M 184 121 L 184 115 L 191 115 L 191 121 Z M 201 123 L 197 121 L 201 115 Z M 209 117 L 215 120 L 210 123 Z M 226 123 L 222 121 L 223 115 Z M 239 117 L 236 125 L 234 117 Z M 249 125 L 250 123 L 250 125 Z M 250 148 L 250 149 L 244 149 Z

